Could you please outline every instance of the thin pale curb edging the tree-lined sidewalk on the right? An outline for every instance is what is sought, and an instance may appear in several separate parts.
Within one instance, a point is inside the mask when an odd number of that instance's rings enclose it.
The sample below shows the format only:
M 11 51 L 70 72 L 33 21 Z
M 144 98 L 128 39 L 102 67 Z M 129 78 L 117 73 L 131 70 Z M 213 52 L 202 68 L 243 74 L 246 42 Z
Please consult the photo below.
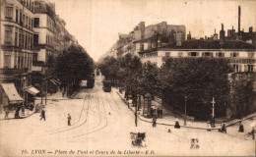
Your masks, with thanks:
M 126 100 L 120 95 L 120 93 L 119 93 L 118 91 L 116 91 L 116 93 L 119 95 L 119 97 L 122 99 L 122 101 L 126 104 Z M 127 104 L 126 104 L 126 105 L 127 105 Z M 130 108 L 130 107 L 129 107 L 129 108 Z M 130 108 L 130 110 L 132 110 L 133 112 L 135 112 L 132 108 Z M 251 118 L 253 118 L 253 117 L 256 117 L 256 116 L 251 116 L 251 117 L 242 119 L 242 120 L 240 120 L 240 121 L 245 121 L 245 120 L 251 119 Z M 145 119 L 142 119 L 142 118 L 141 118 L 141 115 L 138 115 L 138 118 L 139 118 L 141 121 L 144 121 L 144 122 L 147 122 L 147 123 L 152 123 L 151 121 L 147 121 L 147 120 L 145 120 Z M 226 125 L 226 128 L 227 128 L 227 127 L 230 127 L 230 126 L 233 126 L 234 124 L 237 124 L 237 123 L 239 123 L 239 122 L 234 122 L 234 123 L 232 123 L 232 124 Z M 164 123 L 158 123 L 158 122 L 157 122 L 157 124 L 162 125 L 162 126 L 174 126 L 174 125 L 164 124 Z M 188 126 L 181 126 L 181 125 L 180 125 L 180 127 L 182 127 L 182 128 L 190 128 L 190 129 L 207 130 L 207 131 L 209 131 L 209 130 L 214 131 L 214 130 L 219 130 L 219 129 L 221 129 L 221 127 L 219 127 L 219 128 L 207 129 L 207 128 L 188 127 Z

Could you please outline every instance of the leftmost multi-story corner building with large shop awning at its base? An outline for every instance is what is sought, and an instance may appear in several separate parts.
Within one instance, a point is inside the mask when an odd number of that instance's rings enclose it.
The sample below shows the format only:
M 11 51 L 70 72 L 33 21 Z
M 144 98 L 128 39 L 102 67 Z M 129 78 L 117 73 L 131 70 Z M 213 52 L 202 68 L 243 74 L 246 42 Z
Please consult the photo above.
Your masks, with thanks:
M 0 112 L 3 106 L 24 101 L 31 84 L 33 51 L 33 0 L 1 2 Z M 19 93 L 18 93 L 18 91 Z

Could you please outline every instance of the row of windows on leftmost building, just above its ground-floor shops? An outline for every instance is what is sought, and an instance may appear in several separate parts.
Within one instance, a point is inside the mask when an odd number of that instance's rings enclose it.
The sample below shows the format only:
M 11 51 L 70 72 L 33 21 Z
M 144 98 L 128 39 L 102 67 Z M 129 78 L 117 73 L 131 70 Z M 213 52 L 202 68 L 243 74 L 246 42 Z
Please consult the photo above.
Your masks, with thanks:
M 32 68 L 32 53 L 15 52 L 14 65 L 12 66 L 12 55 L 9 52 L 4 54 L 5 68 Z

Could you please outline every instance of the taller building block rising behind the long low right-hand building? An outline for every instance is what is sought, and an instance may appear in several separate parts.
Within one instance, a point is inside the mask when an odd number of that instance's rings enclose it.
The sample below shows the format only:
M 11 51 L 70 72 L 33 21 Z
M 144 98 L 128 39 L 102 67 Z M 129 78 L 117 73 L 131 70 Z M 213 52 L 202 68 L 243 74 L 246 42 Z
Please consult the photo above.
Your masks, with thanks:
M 160 46 L 161 44 L 164 45 L 169 40 L 177 40 L 180 43 L 182 40 L 185 40 L 185 34 L 185 26 L 167 25 L 166 22 L 145 26 L 145 23 L 141 22 L 129 34 L 119 33 L 116 50 L 113 51 L 117 52 L 118 57 L 124 56 L 127 53 L 138 56 L 138 52 L 142 48 L 148 49 Z

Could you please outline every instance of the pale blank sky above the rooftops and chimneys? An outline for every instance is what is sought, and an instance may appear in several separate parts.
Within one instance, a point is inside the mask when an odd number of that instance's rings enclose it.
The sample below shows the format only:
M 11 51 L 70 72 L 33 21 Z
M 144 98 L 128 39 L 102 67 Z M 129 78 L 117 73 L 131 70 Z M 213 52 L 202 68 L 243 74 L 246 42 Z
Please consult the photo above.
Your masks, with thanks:
M 211 36 L 222 23 L 226 29 L 256 30 L 256 0 L 50 0 L 56 14 L 89 55 L 97 61 L 118 40 L 118 32 L 129 33 L 140 22 L 146 26 L 167 22 L 185 25 L 192 37 Z

